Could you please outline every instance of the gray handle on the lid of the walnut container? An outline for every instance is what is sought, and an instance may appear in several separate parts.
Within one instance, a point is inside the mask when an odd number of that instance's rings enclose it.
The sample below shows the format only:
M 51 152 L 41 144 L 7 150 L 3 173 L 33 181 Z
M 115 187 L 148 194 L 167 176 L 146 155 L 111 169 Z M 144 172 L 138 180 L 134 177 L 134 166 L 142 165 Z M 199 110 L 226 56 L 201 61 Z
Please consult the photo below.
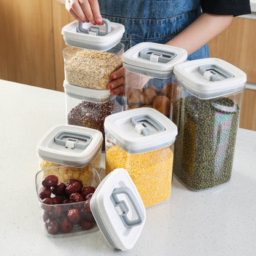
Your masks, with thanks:
M 140 51 L 140 58 L 145 58 L 145 60 L 150 60 L 150 62 L 167 63 L 176 55 L 176 52 L 165 52 L 164 50 L 153 48 L 145 48 Z

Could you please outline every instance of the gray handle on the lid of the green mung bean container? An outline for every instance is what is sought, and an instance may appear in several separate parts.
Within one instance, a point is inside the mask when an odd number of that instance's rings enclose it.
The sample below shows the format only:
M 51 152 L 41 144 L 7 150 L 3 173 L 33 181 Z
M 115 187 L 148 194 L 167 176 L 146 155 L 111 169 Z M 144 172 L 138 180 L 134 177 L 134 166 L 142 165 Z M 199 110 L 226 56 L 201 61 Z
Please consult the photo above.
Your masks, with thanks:
M 199 73 L 204 76 L 204 79 L 212 82 L 234 77 L 228 70 L 214 64 L 199 66 Z

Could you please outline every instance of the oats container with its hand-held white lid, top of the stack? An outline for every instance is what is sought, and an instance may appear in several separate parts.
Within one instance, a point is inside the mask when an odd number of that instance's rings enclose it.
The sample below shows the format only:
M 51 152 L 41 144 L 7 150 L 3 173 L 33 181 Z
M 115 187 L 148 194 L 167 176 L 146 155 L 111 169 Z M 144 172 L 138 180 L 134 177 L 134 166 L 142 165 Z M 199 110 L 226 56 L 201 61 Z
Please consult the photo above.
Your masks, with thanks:
M 103 19 L 105 25 L 71 22 L 62 28 L 65 80 L 91 89 L 107 89 L 110 74 L 122 66 L 124 26 Z

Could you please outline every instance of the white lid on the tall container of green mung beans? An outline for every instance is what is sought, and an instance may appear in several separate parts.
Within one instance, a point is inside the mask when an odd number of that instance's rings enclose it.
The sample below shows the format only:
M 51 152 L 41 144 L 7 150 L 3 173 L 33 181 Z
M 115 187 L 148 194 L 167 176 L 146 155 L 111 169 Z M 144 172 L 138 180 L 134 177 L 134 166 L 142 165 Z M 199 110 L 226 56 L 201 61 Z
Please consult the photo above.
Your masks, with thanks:
M 202 99 L 216 98 L 241 90 L 246 73 L 219 58 L 202 58 L 178 64 L 174 76 L 188 92 Z

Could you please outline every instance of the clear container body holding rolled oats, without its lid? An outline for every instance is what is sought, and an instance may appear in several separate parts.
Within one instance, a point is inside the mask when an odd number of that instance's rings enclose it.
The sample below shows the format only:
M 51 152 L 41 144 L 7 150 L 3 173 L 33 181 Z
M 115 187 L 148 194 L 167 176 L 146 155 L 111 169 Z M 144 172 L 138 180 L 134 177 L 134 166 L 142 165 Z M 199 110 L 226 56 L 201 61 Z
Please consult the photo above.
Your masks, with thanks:
M 101 51 L 67 46 L 63 49 L 66 82 L 91 89 L 107 89 L 110 74 L 122 66 L 124 45 Z

